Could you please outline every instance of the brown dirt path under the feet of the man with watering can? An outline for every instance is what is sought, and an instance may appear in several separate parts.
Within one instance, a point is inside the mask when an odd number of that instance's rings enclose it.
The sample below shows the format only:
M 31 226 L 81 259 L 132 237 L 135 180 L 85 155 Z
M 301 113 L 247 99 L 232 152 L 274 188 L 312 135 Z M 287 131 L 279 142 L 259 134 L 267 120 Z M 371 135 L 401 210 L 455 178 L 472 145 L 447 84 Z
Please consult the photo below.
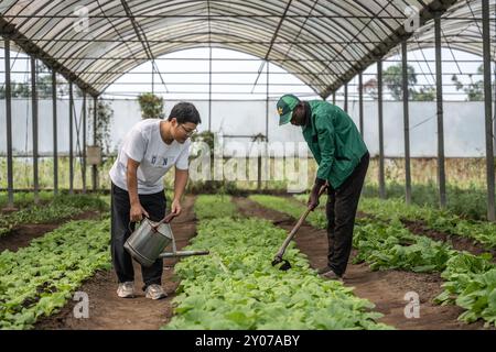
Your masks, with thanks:
M 188 244 L 195 234 L 194 197 L 186 197 L 183 212 L 172 222 L 177 250 Z M 35 329 L 83 330 L 157 330 L 172 317 L 172 299 L 177 283 L 173 282 L 173 266 L 177 260 L 164 260 L 162 286 L 168 297 L 152 300 L 144 297 L 139 264 L 134 263 L 136 298 L 117 297 L 117 276 L 114 271 L 98 272 L 78 289 L 88 294 L 89 318 L 76 319 L 73 309 L 76 301 L 68 301 L 61 312 L 43 318 Z

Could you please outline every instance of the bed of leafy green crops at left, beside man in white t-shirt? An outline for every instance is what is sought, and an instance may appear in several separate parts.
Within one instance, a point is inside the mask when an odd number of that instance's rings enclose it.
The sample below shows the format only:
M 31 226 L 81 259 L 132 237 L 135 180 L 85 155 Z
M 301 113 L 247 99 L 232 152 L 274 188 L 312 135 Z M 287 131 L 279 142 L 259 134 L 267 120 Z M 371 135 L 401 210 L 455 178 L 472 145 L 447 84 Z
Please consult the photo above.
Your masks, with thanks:
M 73 221 L 0 254 L 0 328 L 29 329 L 64 307 L 80 283 L 110 268 L 110 221 Z

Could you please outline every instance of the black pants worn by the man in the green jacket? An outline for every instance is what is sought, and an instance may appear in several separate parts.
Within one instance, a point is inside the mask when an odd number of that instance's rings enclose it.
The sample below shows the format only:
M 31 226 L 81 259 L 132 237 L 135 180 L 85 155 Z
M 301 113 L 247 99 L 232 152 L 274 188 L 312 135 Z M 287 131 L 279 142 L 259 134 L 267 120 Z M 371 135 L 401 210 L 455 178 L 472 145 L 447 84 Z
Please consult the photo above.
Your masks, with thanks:
M 328 266 L 342 276 L 352 252 L 356 209 L 367 174 L 370 156 L 365 154 L 353 174 L 337 189 L 328 187 L 326 206 Z

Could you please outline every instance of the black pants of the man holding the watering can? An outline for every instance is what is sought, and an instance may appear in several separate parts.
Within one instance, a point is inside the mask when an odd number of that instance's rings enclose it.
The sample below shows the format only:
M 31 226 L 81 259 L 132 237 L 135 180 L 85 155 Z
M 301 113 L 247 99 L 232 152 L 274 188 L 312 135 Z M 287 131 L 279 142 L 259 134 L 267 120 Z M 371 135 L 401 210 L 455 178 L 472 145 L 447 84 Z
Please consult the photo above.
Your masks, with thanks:
M 150 220 L 160 221 L 165 216 L 165 195 L 163 191 L 153 195 L 139 195 L 141 206 L 147 210 Z M 130 226 L 129 212 L 131 205 L 127 190 L 111 185 L 111 254 L 112 264 L 119 283 L 134 280 L 132 257 L 125 250 L 123 244 L 134 230 L 134 223 Z M 131 229 L 129 229 L 131 227 Z M 163 260 L 158 258 L 152 266 L 141 266 L 144 287 L 162 282 Z

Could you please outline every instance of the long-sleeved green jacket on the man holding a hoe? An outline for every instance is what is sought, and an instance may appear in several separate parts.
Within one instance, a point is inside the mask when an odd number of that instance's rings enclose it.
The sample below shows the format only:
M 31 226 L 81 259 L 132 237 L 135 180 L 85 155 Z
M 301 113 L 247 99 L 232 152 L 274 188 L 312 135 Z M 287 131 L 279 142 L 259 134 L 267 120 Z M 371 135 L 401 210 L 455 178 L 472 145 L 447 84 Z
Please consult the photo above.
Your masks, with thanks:
M 326 101 L 309 101 L 311 119 L 303 129 L 303 136 L 319 164 L 317 178 L 339 187 L 367 153 L 352 118 Z

